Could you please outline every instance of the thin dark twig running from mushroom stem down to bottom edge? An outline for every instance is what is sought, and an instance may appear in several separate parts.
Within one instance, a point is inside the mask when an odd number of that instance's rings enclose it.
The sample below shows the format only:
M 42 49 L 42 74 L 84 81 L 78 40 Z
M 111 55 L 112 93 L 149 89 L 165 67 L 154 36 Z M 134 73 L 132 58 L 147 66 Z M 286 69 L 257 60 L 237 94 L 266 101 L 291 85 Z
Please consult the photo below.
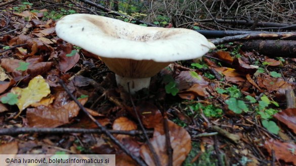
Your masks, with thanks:
M 137 110 L 136 110 L 136 106 L 135 106 L 135 103 L 134 103 L 133 98 L 132 98 L 132 94 L 131 94 L 130 84 L 129 84 L 129 83 L 128 83 L 128 88 L 129 88 L 130 99 L 131 99 L 131 102 L 132 102 L 132 105 L 133 105 L 133 109 L 134 109 L 134 112 L 135 112 L 136 118 L 137 118 L 137 120 L 138 120 L 138 122 L 139 122 L 139 125 L 140 125 L 140 127 L 141 127 L 141 130 L 143 131 L 144 136 L 145 136 L 145 138 L 146 138 L 146 140 L 147 140 L 147 145 L 148 145 L 148 147 L 149 147 L 149 149 L 150 149 L 150 151 L 151 151 L 151 153 L 152 153 L 152 157 L 153 157 L 153 159 L 154 159 L 154 163 L 155 163 L 156 166 L 161 166 L 161 162 L 160 162 L 160 160 L 159 160 L 159 157 L 158 157 L 158 155 L 156 154 L 155 149 L 154 149 L 154 147 L 152 146 L 151 142 L 149 141 L 149 137 L 148 137 L 148 135 L 147 135 L 147 132 L 146 132 L 146 130 L 145 130 L 143 124 L 142 124 L 142 121 L 141 121 L 141 119 L 140 119 L 140 116 L 139 116 L 139 114 L 138 114 L 138 112 L 137 112 Z

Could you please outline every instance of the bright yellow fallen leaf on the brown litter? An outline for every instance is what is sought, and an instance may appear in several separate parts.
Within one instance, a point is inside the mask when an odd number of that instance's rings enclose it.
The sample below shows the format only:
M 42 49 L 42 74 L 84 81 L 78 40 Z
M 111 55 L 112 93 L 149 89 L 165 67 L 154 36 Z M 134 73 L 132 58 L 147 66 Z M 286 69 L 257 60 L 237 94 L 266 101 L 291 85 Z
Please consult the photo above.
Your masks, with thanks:
M 15 87 L 11 90 L 12 93 L 18 94 L 19 101 L 17 103 L 20 111 L 33 103 L 39 102 L 43 97 L 46 97 L 51 91 L 49 84 L 45 79 L 38 75 L 34 77 L 28 87 L 19 88 Z

